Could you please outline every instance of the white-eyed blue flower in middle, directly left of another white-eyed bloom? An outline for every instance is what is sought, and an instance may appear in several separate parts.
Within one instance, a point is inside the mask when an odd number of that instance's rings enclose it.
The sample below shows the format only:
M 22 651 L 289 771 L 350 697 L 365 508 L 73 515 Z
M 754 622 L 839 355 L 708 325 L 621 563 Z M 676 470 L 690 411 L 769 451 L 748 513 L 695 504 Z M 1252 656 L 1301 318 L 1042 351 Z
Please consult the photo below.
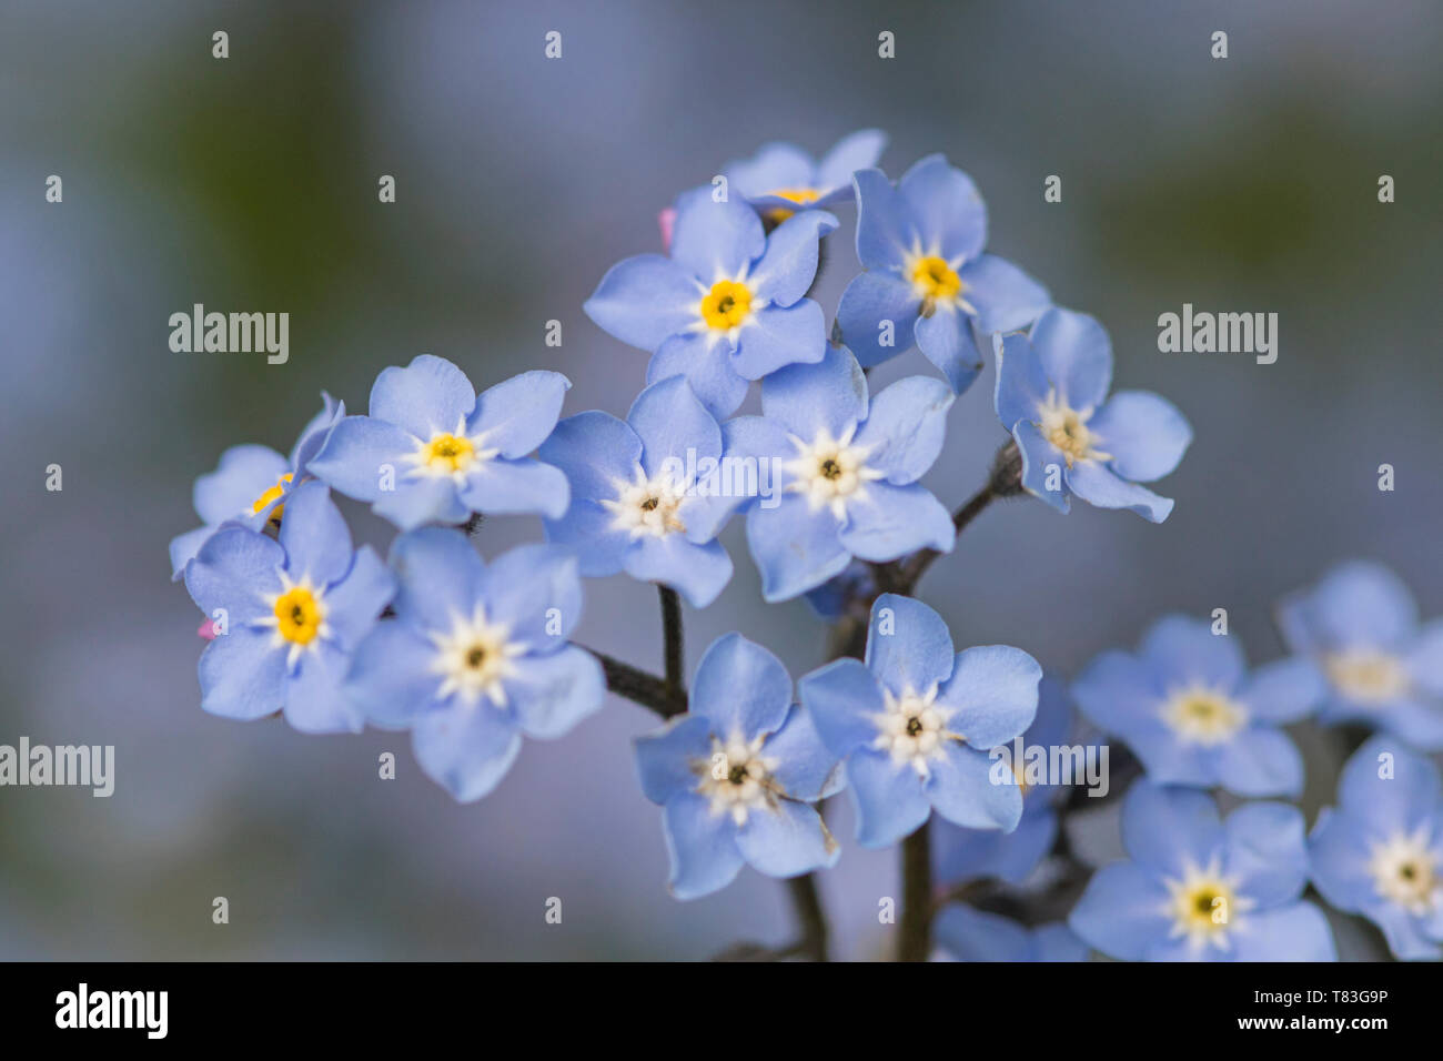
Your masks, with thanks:
M 545 533 L 576 550 L 582 575 L 625 570 L 680 589 L 697 608 L 732 577 L 716 536 L 747 484 L 684 377 L 644 390 L 626 420 L 599 411 L 563 420 L 538 456 L 571 482 L 571 507 Z

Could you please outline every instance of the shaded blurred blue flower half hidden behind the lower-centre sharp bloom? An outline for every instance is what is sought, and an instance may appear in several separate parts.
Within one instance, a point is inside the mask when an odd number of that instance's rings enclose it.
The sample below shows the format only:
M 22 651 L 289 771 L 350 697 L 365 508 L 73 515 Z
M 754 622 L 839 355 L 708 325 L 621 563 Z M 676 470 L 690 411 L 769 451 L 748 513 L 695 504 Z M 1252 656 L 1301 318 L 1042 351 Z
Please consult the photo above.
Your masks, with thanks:
M 1038 715 L 1022 735 L 1023 748 L 1040 748 L 1051 758 L 1051 749 L 1071 745 L 1072 732 L 1074 713 L 1066 690 L 1058 678 L 1045 674 L 1038 686 Z M 1036 759 L 1030 761 L 1029 771 L 1026 755 L 1019 761 L 1013 748 L 1006 751 L 1006 761 L 997 758 L 993 768 L 1001 762 L 1014 772 L 1022 791 L 1022 818 L 1010 833 L 961 829 L 949 821 L 934 820 L 932 870 L 941 883 L 957 885 L 986 878 L 1022 883 L 1058 839 L 1056 804 L 1068 794 L 1069 785 L 1061 784 L 1051 774 L 1042 774 Z M 1076 767 L 1081 769 L 1082 762 Z M 1082 781 L 1082 774 L 1074 777 L 1074 782 Z

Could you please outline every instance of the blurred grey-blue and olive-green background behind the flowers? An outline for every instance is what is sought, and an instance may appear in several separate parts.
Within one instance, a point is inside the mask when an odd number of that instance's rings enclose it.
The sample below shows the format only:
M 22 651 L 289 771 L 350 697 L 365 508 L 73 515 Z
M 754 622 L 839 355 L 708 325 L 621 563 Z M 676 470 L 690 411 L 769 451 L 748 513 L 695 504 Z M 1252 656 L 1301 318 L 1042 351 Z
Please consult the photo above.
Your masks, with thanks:
M 709 899 L 667 896 L 659 811 L 632 769 L 642 709 L 613 699 L 530 742 L 495 794 L 457 805 L 404 735 L 202 713 L 199 616 L 166 559 L 224 447 L 286 450 L 322 388 L 364 411 L 375 374 L 420 352 L 479 387 L 556 368 L 567 411 L 623 414 L 646 358 L 582 302 L 658 248 L 672 196 L 768 140 L 821 152 L 879 126 L 893 176 L 945 152 L 988 201 L 991 250 L 1097 315 L 1118 384 L 1195 424 L 1160 527 L 1030 499 L 988 511 L 922 588 L 960 645 L 1016 644 L 1072 674 L 1165 611 L 1225 606 L 1261 661 L 1281 648 L 1274 599 L 1349 556 L 1443 612 L 1440 39 L 1430 0 L 4 4 L 0 743 L 113 743 L 118 780 L 110 800 L 0 790 L 0 957 L 706 957 L 786 937 L 785 889 L 750 870 Z M 43 199 L 52 173 L 62 205 Z M 1053 173 L 1063 201 L 1045 204 Z M 828 313 L 857 268 L 843 212 Z M 172 354 L 167 318 L 195 302 L 289 312 L 290 362 Z M 1277 312 L 1277 364 L 1159 354 L 1157 315 L 1183 302 Z M 929 371 L 912 352 L 876 378 Z M 1003 440 L 991 385 L 988 370 L 954 409 L 928 478 L 947 502 Z M 384 547 L 385 527 L 346 511 Z M 495 520 L 482 549 L 537 533 Z M 794 676 L 817 665 L 807 605 L 763 606 L 739 525 L 726 543 L 737 575 L 688 612 L 691 663 L 740 629 Z M 590 583 L 579 638 L 659 665 L 654 589 Z M 1338 751 L 1304 739 L 1312 820 Z M 395 781 L 377 777 L 382 751 Z M 824 895 L 843 956 L 867 957 L 893 855 L 851 842 L 844 800 L 834 823 Z M 218 895 L 229 925 L 211 921 Z M 1372 953 L 1371 930 L 1339 934 Z

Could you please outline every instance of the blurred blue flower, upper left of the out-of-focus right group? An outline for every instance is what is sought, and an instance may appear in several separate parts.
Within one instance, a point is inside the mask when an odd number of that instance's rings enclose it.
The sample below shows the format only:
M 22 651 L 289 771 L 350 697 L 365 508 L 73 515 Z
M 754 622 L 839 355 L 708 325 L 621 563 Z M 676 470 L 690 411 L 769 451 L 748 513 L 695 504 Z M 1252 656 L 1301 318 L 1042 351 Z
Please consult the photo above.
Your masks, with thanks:
M 1183 615 L 1159 619 L 1137 655 L 1104 652 L 1072 686 L 1082 713 L 1137 752 L 1160 784 L 1297 795 L 1303 759 L 1278 729 L 1316 709 L 1317 671 L 1280 660 L 1250 676 L 1238 641 Z

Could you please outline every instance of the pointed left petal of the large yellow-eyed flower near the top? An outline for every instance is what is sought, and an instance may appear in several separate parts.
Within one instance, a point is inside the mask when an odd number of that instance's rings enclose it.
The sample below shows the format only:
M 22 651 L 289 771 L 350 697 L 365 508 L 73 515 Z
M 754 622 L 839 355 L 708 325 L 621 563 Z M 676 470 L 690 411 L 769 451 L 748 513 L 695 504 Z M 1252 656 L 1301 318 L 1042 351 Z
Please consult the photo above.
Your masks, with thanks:
M 701 319 L 704 294 L 706 287 L 671 258 L 639 254 L 612 266 L 582 309 L 629 346 L 655 351 Z

